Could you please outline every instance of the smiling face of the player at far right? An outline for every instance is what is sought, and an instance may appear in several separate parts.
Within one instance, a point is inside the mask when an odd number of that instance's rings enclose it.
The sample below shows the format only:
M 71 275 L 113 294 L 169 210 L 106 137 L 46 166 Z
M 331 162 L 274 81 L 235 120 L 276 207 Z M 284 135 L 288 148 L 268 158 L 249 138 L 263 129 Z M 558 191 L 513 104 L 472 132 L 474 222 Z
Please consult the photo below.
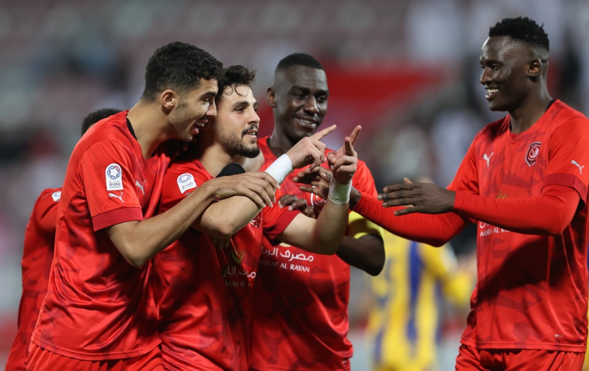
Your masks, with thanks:
M 530 45 L 508 36 L 489 37 L 481 48 L 481 84 L 492 111 L 512 112 L 522 105 L 532 88 Z

